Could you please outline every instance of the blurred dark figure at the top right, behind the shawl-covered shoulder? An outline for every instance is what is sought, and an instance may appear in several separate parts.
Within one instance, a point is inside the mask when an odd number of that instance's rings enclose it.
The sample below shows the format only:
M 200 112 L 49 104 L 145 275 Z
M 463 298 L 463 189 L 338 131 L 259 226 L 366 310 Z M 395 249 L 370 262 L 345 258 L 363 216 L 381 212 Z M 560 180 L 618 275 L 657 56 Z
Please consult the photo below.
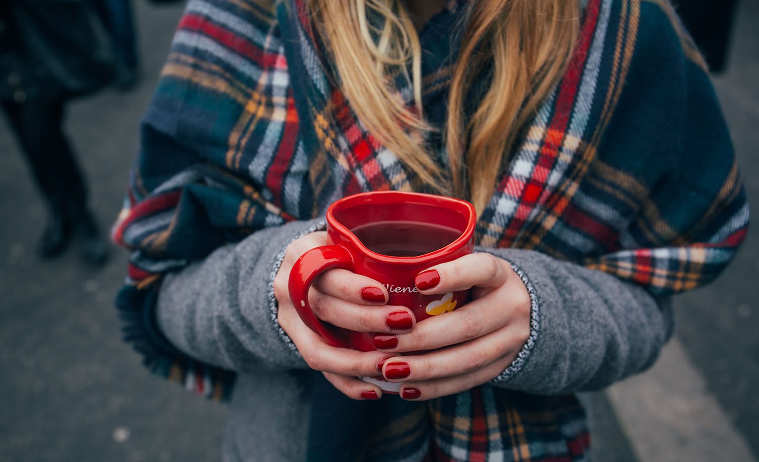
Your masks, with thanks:
M 677 0 L 677 12 L 696 46 L 709 64 L 709 71 L 726 71 L 732 22 L 738 0 Z

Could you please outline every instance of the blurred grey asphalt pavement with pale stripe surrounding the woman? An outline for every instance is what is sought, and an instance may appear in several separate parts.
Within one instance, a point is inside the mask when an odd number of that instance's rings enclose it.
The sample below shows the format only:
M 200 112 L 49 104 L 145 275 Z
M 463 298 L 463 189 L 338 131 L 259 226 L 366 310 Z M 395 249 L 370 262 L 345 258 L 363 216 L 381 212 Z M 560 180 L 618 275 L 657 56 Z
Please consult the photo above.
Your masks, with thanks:
M 182 5 L 134 2 L 142 79 L 77 101 L 67 130 L 103 229 L 121 207 L 138 122 Z M 759 215 L 759 0 L 743 0 L 714 83 Z M 213 461 L 225 407 L 150 376 L 121 342 L 112 299 L 126 255 L 102 269 L 34 250 L 46 211 L 0 118 L 0 461 Z M 710 287 L 676 301 L 676 337 L 653 369 L 587 394 L 595 460 L 757 460 L 759 226 Z

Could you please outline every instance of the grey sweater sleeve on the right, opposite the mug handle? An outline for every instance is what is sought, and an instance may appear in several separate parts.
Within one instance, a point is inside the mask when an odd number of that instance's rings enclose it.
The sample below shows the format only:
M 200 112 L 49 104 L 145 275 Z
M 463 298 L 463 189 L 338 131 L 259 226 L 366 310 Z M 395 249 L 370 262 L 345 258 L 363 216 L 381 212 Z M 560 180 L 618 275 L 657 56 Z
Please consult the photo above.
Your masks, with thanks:
M 668 298 L 533 250 L 487 249 L 528 287 L 531 335 L 491 384 L 535 394 L 604 388 L 653 364 L 672 335 Z

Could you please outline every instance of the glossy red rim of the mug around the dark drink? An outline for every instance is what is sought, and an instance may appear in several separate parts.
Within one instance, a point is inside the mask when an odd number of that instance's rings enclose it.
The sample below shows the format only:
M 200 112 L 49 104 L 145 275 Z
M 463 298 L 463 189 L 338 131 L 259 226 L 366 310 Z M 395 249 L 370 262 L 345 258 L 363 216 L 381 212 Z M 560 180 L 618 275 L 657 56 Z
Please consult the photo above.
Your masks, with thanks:
M 353 234 L 353 231 L 349 230 L 345 225 L 342 225 L 337 218 L 335 218 L 335 210 L 341 209 L 343 206 L 346 206 L 348 204 L 359 202 L 366 196 L 389 196 L 392 198 L 392 196 L 398 196 L 398 197 L 407 197 L 411 199 L 417 199 L 417 200 L 423 200 L 424 203 L 431 203 L 431 201 L 435 202 L 443 202 L 443 203 L 454 203 L 457 206 L 463 206 L 465 209 L 468 210 L 469 216 L 467 218 L 467 225 L 465 230 L 459 235 L 452 243 L 446 245 L 445 247 L 440 247 L 437 250 L 434 250 L 430 253 L 424 253 L 422 255 L 417 256 L 391 256 L 391 255 L 385 255 L 383 253 L 376 253 L 373 250 L 370 250 L 368 247 L 364 245 L 364 243 L 361 242 L 361 240 Z M 435 204 L 431 204 L 435 205 Z M 332 229 L 336 232 L 339 232 L 339 234 L 342 234 L 342 236 L 346 237 L 351 244 L 353 244 L 358 250 L 361 251 L 361 253 L 364 253 L 367 256 L 370 256 L 372 259 L 375 259 L 378 262 L 385 262 L 385 263 L 394 263 L 394 264 L 407 264 L 407 265 L 418 265 L 420 263 L 428 262 L 430 260 L 437 259 L 442 256 L 446 256 L 449 253 L 453 253 L 456 250 L 461 249 L 461 247 L 465 247 L 465 245 L 471 240 L 471 237 L 474 235 L 474 227 L 477 223 L 477 212 L 474 210 L 474 206 L 471 203 L 468 203 L 465 200 L 456 199 L 455 197 L 449 197 L 449 196 L 438 196 L 436 194 L 427 194 L 427 193 L 412 193 L 407 191 L 369 191 L 367 193 L 357 193 L 352 194 L 351 196 L 345 196 L 340 200 L 336 200 L 334 203 L 332 203 L 331 206 L 327 209 L 326 213 L 326 219 L 327 223 L 332 227 Z

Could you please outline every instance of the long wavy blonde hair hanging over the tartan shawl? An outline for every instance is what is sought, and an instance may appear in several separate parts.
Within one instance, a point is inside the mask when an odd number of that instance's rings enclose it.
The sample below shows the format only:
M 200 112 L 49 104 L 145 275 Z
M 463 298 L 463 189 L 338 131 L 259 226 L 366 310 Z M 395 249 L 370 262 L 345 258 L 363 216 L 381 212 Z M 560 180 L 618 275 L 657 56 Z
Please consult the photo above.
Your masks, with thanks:
M 564 74 L 580 16 L 579 0 L 470 0 L 465 5 L 470 10 L 449 90 L 446 173 L 421 142 L 433 128 L 421 107 L 421 49 L 404 0 L 307 3 L 357 118 L 422 183 L 466 197 L 478 213 L 496 189 L 503 158 L 520 130 Z M 370 11 L 381 27 L 367 20 Z M 490 86 L 465 120 L 468 91 L 489 63 Z M 398 72 L 411 83 L 413 108 L 393 84 Z

